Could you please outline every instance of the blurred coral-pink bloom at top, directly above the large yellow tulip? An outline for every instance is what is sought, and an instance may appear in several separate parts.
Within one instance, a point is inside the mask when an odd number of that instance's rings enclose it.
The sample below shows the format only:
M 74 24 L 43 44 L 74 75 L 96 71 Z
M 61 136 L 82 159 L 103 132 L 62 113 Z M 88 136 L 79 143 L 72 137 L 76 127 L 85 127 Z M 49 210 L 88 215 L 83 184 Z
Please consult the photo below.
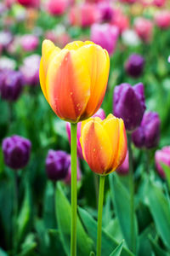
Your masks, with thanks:
M 99 10 L 90 3 L 75 5 L 71 8 L 69 20 L 72 26 L 91 26 L 99 20 Z

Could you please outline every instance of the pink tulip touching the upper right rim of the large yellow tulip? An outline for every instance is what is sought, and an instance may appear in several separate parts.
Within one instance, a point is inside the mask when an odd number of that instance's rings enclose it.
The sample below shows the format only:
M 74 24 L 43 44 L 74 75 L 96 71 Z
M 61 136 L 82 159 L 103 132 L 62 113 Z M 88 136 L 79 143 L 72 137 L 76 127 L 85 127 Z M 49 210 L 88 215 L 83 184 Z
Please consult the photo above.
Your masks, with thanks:
M 110 55 L 113 54 L 117 39 L 119 37 L 119 29 L 117 26 L 110 24 L 94 24 L 91 26 L 91 40 L 95 44 L 99 44 L 104 49 L 107 49 Z

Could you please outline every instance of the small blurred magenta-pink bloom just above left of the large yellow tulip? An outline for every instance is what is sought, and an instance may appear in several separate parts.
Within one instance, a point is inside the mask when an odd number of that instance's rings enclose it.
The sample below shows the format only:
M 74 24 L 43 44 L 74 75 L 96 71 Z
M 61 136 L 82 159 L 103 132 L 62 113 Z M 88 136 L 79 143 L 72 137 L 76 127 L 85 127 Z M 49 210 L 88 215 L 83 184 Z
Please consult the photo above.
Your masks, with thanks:
M 35 35 L 24 35 L 20 42 L 22 48 L 26 51 L 32 51 L 37 49 L 39 39 Z

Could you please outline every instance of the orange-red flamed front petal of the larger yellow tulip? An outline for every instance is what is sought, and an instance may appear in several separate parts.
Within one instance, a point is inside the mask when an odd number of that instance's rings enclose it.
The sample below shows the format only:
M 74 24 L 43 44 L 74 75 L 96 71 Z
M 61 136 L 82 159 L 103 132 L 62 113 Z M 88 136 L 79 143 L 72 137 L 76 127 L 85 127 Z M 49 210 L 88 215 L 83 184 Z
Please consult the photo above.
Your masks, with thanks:
M 61 50 L 49 63 L 46 83 L 54 112 L 60 119 L 77 122 L 90 96 L 90 76 L 82 55 L 77 50 Z

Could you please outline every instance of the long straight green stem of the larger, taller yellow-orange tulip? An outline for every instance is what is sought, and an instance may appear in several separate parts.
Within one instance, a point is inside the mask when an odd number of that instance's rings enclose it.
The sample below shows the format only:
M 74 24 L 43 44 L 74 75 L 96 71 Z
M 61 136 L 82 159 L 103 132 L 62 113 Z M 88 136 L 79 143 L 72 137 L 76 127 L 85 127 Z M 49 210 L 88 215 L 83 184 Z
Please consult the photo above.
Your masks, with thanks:
M 71 256 L 77 255 L 77 124 L 71 124 Z

